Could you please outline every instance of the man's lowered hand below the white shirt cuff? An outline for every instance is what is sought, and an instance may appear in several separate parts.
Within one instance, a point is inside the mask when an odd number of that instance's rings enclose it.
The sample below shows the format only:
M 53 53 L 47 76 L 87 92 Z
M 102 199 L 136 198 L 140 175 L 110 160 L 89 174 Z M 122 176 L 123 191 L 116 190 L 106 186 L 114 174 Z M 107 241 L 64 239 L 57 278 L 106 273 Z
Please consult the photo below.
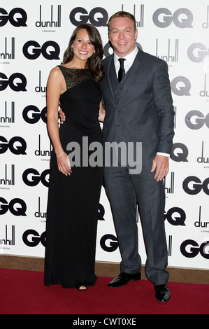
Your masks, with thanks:
M 164 155 L 156 155 L 154 160 L 152 161 L 152 169 L 151 172 L 154 172 L 156 169 L 154 179 L 157 181 L 161 181 L 167 176 L 169 171 L 169 158 Z

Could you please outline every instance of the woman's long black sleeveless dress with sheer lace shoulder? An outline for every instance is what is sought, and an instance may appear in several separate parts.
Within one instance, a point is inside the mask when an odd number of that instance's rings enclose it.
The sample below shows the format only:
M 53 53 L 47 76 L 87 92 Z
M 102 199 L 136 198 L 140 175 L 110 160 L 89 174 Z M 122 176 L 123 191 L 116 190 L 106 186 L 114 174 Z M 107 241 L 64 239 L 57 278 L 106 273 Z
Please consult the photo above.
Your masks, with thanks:
M 67 88 L 60 96 L 66 120 L 59 127 L 59 137 L 66 154 L 70 153 L 66 151 L 69 143 L 75 142 L 80 146 L 81 164 L 75 161 L 75 165 L 71 164 L 72 174 L 65 176 L 59 172 L 55 151 L 52 150 L 44 284 L 61 284 L 64 288 L 94 286 L 96 229 L 103 168 L 87 165 L 85 157 L 93 152 L 89 151 L 89 144 L 95 141 L 102 143 L 98 121 L 101 90 L 89 76 L 88 69 L 58 67 L 64 75 Z M 84 165 L 82 160 L 85 161 Z

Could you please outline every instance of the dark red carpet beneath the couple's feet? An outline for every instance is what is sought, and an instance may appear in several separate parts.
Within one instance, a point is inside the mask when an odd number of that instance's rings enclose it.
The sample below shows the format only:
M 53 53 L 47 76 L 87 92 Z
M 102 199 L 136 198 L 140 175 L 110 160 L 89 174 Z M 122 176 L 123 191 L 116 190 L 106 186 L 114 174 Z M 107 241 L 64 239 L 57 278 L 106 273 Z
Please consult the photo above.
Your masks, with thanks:
M 108 288 L 99 277 L 86 291 L 43 286 L 43 272 L 0 269 L 0 314 L 209 314 L 209 285 L 173 283 L 171 300 L 157 302 L 147 280 Z

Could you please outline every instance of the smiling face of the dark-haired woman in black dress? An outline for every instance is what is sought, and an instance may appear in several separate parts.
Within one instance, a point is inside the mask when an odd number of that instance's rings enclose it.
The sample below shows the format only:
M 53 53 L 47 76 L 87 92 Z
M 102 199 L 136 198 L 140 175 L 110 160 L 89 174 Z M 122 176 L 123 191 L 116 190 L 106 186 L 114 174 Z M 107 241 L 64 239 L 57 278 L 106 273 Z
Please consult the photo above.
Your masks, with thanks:
M 95 52 L 94 45 L 89 40 L 89 34 L 86 29 L 80 29 L 72 45 L 74 56 L 79 60 L 87 61 Z

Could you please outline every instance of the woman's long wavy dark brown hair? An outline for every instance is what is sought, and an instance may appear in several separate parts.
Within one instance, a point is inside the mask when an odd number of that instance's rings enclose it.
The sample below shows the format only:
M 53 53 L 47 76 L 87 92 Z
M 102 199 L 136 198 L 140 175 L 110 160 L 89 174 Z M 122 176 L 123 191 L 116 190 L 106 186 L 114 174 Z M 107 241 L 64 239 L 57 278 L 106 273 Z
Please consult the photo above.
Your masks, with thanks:
M 101 64 L 101 59 L 103 58 L 103 45 L 101 41 L 101 36 L 99 34 L 98 29 L 91 24 L 80 24 L 73 31 L 71 39 L 69 41 L 69 46 L 64 52 L 64 57 L 62 64 L 66 64 L 67 62 L 71 62 L 73 59 L 73 51 L 72 44 L 75 41 L 75 37 L 80 29 L 85 29 L 87 34 L 89 35 L 89 40 L 92 45 L 94 45 L 95 52 L 94 54 L 87 59 L 87 68 L 89 69 L 90 76 L 96 81 L 96 83 L 101 83 L 103 79 L 103 67 Z

